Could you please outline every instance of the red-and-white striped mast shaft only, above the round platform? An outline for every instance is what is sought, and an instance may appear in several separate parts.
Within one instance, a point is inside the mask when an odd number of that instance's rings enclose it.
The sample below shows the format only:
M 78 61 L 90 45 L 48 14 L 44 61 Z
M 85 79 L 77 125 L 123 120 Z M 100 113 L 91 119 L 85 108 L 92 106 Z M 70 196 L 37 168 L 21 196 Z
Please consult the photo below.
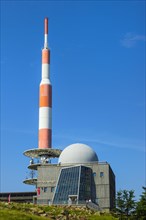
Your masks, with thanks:
M 50 82 L 50 50 L 48 48 L 48 18 L 45 18 L 44 48 L 42 50 L 42 80 L 39 104 L 39 148 L 52 145 L 52 86 Z

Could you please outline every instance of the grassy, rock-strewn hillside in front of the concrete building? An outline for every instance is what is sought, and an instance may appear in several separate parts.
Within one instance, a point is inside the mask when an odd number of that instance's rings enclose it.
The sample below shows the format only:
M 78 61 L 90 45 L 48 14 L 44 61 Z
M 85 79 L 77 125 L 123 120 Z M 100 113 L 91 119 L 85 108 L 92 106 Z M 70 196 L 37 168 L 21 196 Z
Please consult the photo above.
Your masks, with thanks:
M 27 203 L 0 202 L 1 220 L 114 220 L 110 214 L 86 207 L 41 206 Z

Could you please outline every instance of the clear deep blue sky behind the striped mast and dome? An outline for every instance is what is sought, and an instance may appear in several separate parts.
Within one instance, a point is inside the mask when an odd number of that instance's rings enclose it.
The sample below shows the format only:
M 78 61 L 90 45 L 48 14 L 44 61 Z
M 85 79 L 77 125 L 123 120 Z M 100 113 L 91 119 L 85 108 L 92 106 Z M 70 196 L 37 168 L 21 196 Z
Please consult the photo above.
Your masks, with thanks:
M 0 191 L 33 191 L 44 18 L 49 18 L 53 148 L 84 143 L 116 176 L 145 177 L 145 1 L 1 1 Z M 55 161 L 56 162 L 56 161 Z

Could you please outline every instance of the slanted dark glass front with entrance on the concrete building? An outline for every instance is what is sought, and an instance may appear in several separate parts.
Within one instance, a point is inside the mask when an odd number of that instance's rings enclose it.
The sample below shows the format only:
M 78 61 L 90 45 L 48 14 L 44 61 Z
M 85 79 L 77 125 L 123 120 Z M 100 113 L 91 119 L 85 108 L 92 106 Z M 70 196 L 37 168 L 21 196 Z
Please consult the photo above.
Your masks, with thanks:
M 91 198 L 92 170 L 85 166 L 61 169 L 53 204 L 85 203 Z

